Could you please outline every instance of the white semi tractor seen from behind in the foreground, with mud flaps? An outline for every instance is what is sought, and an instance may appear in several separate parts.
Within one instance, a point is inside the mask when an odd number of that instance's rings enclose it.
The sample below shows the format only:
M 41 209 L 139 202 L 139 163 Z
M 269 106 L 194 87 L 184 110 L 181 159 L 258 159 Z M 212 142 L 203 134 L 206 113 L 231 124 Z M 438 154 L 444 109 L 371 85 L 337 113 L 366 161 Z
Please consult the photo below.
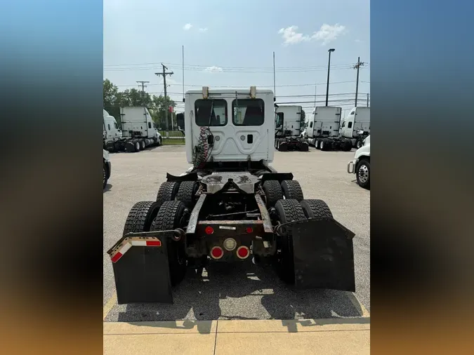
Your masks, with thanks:
M 185 93 L 177 120 L 192 166 L 136 203 L 107 251 L 119 304 L 173 302 L 187 269 L 211 262 L 268 262 L 295 288 L 355 290 L 354 233 L 270 165 L 273 98 L 255 86 Z

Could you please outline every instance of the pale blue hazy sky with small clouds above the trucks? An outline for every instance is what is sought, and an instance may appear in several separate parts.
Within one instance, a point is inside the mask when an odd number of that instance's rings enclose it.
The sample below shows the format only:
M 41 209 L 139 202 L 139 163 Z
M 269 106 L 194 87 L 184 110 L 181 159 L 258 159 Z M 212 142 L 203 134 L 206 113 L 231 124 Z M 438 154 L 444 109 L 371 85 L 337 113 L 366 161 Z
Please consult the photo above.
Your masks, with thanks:
M 370 93 L 369 1 L 157 1 L 104 0 L 104 79 L 119 90 L 163 93 L 162 71 L 172 76 L 169 96 L 209 87 L 273 88 L 275 52 L 277 102 L 298 102 L 308 112 L 324 105 L 328 49 L 331 53 L 329 105 L 354 106 L 357 57 L 358 105 Z M 315 84 L 316 87 L 315 87 Z M 306 97 L 294 95 L 308 95 Z M 337 101 L 336 101 L 337 100 Z

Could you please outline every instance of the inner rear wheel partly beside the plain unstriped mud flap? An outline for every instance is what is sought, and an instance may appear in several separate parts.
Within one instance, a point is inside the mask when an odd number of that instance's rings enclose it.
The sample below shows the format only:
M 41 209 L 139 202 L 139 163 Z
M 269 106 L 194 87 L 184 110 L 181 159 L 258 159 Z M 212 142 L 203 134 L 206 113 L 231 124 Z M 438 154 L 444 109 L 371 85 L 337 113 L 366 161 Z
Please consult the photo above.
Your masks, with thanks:
M 306 216 L 303 208 L 296 200 L 279 200 L 275 204 L 277 222 L 280 224 L 294 220 L 305 220 Z M 275 266 L 277 274 L 286 283 L 295 282 L 294 255 L 293 255 L 293 235 L 291 227 L 282 227 L 281 236 L 277 236 L 277 255 Z

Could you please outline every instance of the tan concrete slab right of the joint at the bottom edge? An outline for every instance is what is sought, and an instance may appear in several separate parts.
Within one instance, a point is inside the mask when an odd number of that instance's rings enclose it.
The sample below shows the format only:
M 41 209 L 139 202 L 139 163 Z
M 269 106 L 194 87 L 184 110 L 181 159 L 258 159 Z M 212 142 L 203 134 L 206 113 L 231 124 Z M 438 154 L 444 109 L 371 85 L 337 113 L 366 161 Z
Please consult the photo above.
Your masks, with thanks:
M 370 354 L 370 331 L 217 333 L 215 354 Z

